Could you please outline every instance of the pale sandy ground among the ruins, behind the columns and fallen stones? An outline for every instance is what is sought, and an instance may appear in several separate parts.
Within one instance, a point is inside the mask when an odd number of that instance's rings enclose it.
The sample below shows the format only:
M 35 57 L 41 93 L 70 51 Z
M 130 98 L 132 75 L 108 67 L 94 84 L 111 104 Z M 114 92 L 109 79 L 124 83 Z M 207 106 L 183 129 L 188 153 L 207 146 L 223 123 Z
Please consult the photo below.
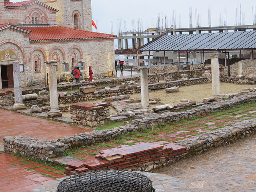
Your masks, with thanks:
M 228 93 L 238 93 L 242 88 L 255 88 L 254 85 L 238 85 L 232 83 L 220 83 L 220 94 Z M 212 83 L 198 84 L 191 86 L 182 86 L 180 87 L 179 92 L 176 93 L 166 93 L 165 89 L 154 90 L 149 92 L 149 98 L 159 97 L 162 104 L 178 104 L 181 99 L 196 100 L 200 102 L 203 98 L 208 98 L 212 96 Z M 140 98 L 140 94 L 130 95 L 130 99 Z M 95 103 L 101 102 L 102 99 L 91 100 L 83 103 Z M 152 105 L 152 107 L 160 104 Z M 116 113 L 116 111 L 111 108 L 111 113 Z M 63 116 L 70 117 L 70 113 L 64 113 Z

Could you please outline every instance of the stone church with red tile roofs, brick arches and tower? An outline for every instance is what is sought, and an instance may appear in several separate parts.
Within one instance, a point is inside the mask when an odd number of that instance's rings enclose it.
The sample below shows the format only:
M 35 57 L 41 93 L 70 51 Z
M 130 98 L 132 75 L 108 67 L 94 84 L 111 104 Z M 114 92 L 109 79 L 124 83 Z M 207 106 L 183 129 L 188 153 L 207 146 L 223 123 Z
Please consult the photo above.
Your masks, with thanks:
M 92 32 L 91 0 L 0 0 L 0 89 L 13 87 L 12 62 L 20 62 L 22 87 L 44 85 L 44 61 L 58 60 L 58 79 L 82 65 L 88 76 L 110 76 L 115 35 Z M 112 75 L 112 74 L 111 74 Z

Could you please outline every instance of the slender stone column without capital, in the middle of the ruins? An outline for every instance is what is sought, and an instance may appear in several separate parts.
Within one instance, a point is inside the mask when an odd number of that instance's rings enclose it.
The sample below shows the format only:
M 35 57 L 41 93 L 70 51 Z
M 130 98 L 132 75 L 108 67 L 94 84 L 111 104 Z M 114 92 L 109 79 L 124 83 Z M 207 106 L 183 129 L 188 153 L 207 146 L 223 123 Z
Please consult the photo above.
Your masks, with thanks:
M 152 112 L 149 107 L 149 96 L 148 96 L 148 68 L 140 68 L 140 89 L 141 89 L 141 106 L 142 112 Z

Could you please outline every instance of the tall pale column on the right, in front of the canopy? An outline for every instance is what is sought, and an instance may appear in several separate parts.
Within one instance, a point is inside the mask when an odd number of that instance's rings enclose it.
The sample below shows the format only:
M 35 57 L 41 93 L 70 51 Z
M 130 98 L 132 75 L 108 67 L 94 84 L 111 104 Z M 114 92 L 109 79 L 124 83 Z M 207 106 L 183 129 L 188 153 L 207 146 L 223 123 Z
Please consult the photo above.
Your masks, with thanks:
M 220 100 L 220 72 L 219 72 L 219 54 L 210 54 L 212 58 L 212 96 Z

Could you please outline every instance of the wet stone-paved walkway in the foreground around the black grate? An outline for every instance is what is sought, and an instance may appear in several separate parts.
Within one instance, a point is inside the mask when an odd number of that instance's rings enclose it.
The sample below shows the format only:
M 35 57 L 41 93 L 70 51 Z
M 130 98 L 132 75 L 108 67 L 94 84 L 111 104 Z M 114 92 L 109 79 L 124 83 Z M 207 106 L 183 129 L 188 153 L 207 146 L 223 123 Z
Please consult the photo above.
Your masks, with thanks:
M 255 192 L 256 135 L 157 171 L 140 172 L 156 192 Z M 59 178 L 32 192 L 55 192 Z

